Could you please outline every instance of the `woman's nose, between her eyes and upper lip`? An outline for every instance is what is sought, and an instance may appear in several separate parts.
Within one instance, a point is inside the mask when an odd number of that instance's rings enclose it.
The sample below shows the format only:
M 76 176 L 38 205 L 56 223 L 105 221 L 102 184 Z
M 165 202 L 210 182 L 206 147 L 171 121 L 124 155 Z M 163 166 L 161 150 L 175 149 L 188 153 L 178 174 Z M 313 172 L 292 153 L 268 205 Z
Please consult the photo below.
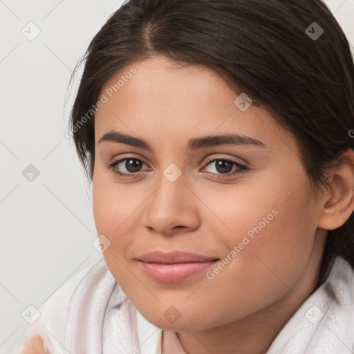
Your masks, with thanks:
M 164 174 L 158 178 L 158 187 L 147 199 L 142 216 L 142 223 L 150 232 L 171 236 L 198 228 L 198 198 L 187 182 L 184 174 L 174 181 Z

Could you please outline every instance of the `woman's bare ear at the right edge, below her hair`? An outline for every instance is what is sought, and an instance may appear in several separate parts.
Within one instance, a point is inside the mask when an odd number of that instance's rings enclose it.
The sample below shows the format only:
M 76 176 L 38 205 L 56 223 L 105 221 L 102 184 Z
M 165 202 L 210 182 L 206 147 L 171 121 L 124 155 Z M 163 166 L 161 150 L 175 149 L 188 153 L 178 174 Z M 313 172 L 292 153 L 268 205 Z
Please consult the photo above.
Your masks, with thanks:
M 330 173 L 330 191 L 324 196 L 318 226 L 325 230 L 342 226 L 354 210 L 354 151 L 349 148 Z

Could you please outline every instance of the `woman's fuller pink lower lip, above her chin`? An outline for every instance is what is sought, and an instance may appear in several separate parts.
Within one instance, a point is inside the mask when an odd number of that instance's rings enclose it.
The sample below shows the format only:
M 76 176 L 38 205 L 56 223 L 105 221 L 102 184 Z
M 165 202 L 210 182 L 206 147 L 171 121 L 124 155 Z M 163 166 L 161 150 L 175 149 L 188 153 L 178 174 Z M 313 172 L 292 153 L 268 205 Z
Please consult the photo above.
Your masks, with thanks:
M 146 263 L 139 261 L 139 263 L 142 272 L 152 280 L 159 281 L 160 283 L 178 283 L 192 277 L 194 274 L 207 270 L 207 268 L 214 265 L 217 261 L 174 264 Z

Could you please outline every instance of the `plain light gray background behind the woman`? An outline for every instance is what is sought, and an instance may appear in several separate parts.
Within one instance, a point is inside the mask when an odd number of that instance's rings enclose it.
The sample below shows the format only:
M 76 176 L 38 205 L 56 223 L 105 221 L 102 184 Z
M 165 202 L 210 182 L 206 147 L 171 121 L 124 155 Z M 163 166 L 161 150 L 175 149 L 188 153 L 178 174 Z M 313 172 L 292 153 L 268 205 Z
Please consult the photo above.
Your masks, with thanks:
M 354 0 L 326 3 L 353 48 Z M 71 93 L 67 88 L 76 62 L 121 4 L 0 0 L 0 353 L 21 341 L 29 305 L 40 308 L 102 257 L 92 245 L 91 185 L 64 136 L 78 78 Z M 29 40 L 22 28 L 40 33 Z M 32 181 L 22 174 L 30 164 L 39 170 Z

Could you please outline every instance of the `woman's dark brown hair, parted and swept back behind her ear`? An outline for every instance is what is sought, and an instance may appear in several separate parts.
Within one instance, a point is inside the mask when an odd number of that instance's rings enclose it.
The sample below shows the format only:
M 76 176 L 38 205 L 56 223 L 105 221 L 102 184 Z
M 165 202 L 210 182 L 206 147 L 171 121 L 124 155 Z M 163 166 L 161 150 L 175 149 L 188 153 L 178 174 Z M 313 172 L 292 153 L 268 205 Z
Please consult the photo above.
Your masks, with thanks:
M 306 28 L 324 30 L 311 39 Z M 164 55 L 203 64 L 239 93 L 273 113 L 296 138 L 313 198 L 328 188 L 327 171 L 353 145 L 353 57 L 342 28 L 320 0 L 131 0 L 109 17 L 82 59 L 71 129 L 95 105 L 104 84 L 138 60 Z M 235 96 L 236 97 L 236 96 Z M 94 114 L 73 129 L 75 148 L 92 181 Z M 354 269 L 354 214 L 329 230 L 321 285 L 339 255 Z

